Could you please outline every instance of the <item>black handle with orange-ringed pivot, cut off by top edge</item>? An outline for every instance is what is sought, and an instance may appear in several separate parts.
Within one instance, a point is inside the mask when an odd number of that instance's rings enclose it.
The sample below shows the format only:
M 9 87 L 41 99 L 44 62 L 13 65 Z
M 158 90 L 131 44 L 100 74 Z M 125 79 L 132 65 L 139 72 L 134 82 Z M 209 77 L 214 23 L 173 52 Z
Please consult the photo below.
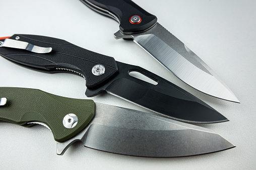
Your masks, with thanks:
M 156 16 L 149 14 L 130 0 L 81 0 L 113 13 L 118 18 L 119 29 L 123 33 L 138 33 L 149 29 L 157 22 Z M 88 3 L 87 3 L 88 4 Z M 132 24 L 130 18 L 140 16 L 139 24 Z

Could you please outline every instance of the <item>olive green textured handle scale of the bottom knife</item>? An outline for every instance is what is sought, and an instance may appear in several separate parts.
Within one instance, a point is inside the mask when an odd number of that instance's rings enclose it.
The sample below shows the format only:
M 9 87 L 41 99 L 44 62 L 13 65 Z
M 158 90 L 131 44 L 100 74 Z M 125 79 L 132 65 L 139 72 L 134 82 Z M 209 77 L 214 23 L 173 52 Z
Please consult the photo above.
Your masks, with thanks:
M 7 103 L 0 106 L 0 120 L 18 125 L 29 126 L 33 121 L 46 124 L 54 139 L 63 142 L 82 131 L 95 114 L 93 100 L 73 99 L 56 96 L 37 89 L 0 87 L 0 97 Z M 73 113 L 77 116 L 77 125 L 66 128 L 63 118 Z

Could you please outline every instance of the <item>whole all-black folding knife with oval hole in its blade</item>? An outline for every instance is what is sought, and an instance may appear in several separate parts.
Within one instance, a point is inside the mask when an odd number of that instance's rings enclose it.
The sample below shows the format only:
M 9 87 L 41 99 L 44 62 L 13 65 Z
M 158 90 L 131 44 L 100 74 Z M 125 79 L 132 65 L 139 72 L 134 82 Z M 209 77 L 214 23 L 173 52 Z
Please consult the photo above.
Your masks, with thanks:
M 175 120 L 190 123 L 228 121 L 197 97 L 141 67 L 115 61 L 67 41 L 14 35 L 0 43 L 0 55 L 16 64 L 47 73 L 70 72 L 84 77 L 87 97 L 106 91 Z M 157 85 L 133 77 L 130 72 L 139 72 Z

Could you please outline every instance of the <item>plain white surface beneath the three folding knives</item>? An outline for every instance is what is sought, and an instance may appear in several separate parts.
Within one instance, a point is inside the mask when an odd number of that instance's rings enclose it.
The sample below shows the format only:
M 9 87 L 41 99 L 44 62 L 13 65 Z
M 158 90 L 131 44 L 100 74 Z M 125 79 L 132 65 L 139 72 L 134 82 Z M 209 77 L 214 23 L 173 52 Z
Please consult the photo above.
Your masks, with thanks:
M 51 132 L 0 123 L 2 169 L 255 169 L 256 167 L 256 12 L 255 1 L 134 0 L 158 18 L 228 85 L 240 104 L 205 95 L 181 82 L 132 41 L 115 40 L 118 23 L 80 1 L 2 0 L 0 37 L 34 34 L 55 37 L 141 66 L 199 97 L 230 121 L 203 125 L 221 134 L 235 148 L 189 157 L 145 158 L 107 153 L 75 143 L 56 155 Z M 67 73 L 29 70 L 0 57 L 0 86 L 36 88 L 52 94 L 86 99 L 85 80 Z M 0 94 L 1 96 L 1 94 Z M 5 96 L 1 96 L 5 97 Z M 109 94 L 95 102 L 149 112 Z M 1 108 L 0 108 L 1 109 Z

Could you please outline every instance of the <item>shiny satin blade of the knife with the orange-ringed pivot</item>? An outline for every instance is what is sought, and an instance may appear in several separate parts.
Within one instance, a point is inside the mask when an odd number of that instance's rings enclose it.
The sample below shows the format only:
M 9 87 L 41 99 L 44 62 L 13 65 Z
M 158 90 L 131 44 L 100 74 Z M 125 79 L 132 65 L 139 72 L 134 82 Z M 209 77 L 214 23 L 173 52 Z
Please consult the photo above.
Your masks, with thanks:
M 133 38 L 135 43 L 189 86 L 208 95 L 239 103 L 213 70 L 159 23 L 140 34 L 127 35 L 118 31 L 114 36 L 116 39 Z

